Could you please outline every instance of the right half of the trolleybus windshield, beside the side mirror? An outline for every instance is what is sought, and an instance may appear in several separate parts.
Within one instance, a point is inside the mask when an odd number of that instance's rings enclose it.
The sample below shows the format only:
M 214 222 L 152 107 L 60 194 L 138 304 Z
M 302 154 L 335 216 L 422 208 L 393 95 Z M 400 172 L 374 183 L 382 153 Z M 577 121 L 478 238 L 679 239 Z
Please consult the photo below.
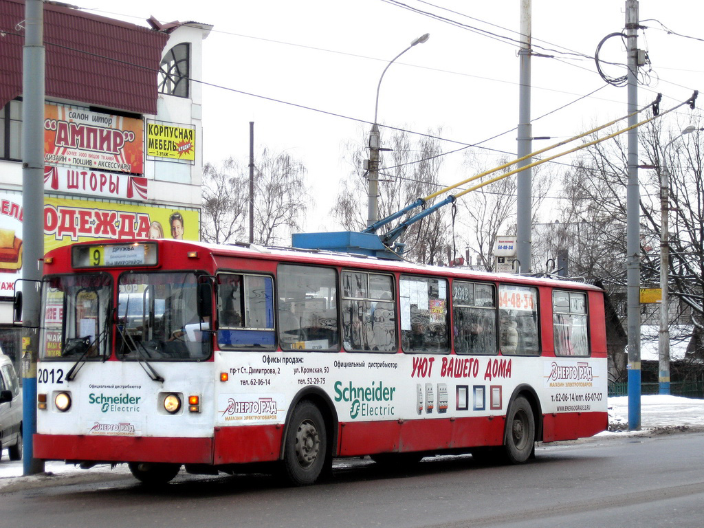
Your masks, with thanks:
M 210 356 L 210 321 L 198 314 L 193 272 L 127 272 L 118 281 L 118 334 L 123 360 L 203 360 Z

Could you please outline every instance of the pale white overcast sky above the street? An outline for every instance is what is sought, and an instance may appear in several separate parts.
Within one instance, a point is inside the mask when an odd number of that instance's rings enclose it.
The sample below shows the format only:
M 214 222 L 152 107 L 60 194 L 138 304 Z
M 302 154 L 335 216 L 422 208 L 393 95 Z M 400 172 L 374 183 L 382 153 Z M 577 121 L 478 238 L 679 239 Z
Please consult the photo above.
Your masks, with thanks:
M 429 40 L 384 75 L 379 124 L 419 133 L 441 127 L 444 151 L 481 144 L 445 156 L 446 184 L 471 175 L 462 165 L 466 151 L 487 166 L 515 153 L 519 60 L 512 39 L 518 38 L 519 0 L 121 0 L 109 8 L 98 0 L 75 1 L 138 25 L 146 26 L 150 15 L 213 25 L 203 57 L 204 161 L 246 161 L 253 121 L 257 151 L 285 151 L 308 168 L 315 196 L 310 231 L 331 228 L 327 214 L 351 172 L 346 144 L 366 141 L 382 71 L 422 34 Z M 704 38 L 698 24 L 704 4 L 639 5 L 641 25 L 648 27 L 639 33 L 639 47 L 652 63 L 639 106 L 662 92 L 665 110 L 704 89 L 704 41 L 698 40 Z M 532 58 L 533 135 L 555 138 L 534 142 L 534 149 L 627 113 L 626 88 L 607 84 L 589 58 L 603 37 L 623 30 L 624 6 L 615 0 L 532 2 L 534 50 L 544 55 Z M 608 39 L 601 58 L 624 63 L 621 39 Z M 603 70 L 611 77 L 625 73 L 619 65 L 603 64 Z M 699 111 L 667 115 L 666 130 L 676 134 L 692 114 Z

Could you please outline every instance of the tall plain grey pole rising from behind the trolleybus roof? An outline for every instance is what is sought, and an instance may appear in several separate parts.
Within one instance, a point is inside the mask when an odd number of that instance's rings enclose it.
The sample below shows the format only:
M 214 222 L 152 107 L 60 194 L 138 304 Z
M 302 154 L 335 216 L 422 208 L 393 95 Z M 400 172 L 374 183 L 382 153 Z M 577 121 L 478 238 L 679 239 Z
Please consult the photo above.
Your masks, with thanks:
M 520 58 L 520 87 L 518 102 L 518 157 L 527 156 L 533 151 L 533 130 L 530 123 L 531 103 L 531 0 L 521 0 L 520 13 L 520 38 L 521 47 L 518 51 Z M 517 168 L 532 163 L 532 158 L 527 158 L 517 164 Z M 520 272 L 530 272 L 531 265 L 531 224 L 532 224 L 532 168 L 522 170 L 517 175 L 517 206 L 516 206 L 516 256 L 521 263 Z

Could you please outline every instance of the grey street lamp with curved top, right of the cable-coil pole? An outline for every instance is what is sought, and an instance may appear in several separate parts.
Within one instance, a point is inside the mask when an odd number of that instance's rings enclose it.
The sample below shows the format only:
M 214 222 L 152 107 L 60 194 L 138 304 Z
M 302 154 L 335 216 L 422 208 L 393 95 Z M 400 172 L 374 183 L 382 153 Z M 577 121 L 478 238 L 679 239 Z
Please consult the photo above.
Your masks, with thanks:
M 668 291 L 668 268 L 670 251 L 668 245 L 667 213 L 670 210 L 670 169 L 667 168 L 667 147 L 677 139 L 694 132 L 696 127 L 689 125 L 670 143 L 662 147 L 662 172 L 660 173 L 660 333 L 658 334 L 658 383 L 660 394 L 670 394 L 670 299 Z

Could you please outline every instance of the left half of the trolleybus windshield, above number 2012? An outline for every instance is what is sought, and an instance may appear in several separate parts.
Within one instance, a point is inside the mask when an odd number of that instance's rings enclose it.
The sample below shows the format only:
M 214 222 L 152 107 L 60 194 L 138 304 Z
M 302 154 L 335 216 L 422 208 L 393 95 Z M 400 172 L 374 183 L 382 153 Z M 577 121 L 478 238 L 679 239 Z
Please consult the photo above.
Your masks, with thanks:
M 46 277 L 42 359 L 109 356 L 112 280 L 105 274 Z

